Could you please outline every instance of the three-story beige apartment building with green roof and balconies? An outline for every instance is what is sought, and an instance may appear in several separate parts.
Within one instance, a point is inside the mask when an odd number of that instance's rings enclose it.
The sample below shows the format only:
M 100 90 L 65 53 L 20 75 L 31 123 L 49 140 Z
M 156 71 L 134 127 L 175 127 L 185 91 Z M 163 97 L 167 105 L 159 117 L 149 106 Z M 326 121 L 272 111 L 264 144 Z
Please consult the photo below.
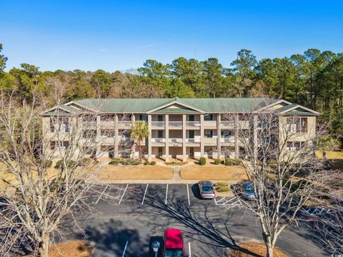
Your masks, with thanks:
M 296 151 L 305 138 L 315 133 L 319 113 L 284 100 L 80 99 L 41 114 L 45 140 L 49 141 L 44 151 L 68 148 L 68 133 L 78 126 L 83 133 L 80 141 L 86 141 L 80 147 L 86 148 L 89 156 L 137 157 L 139 148 L 130 138 L 130 129 L 136 121 L 145 121 L 149 137 L 141 145 L 147 159 L 240 158 L 237 130 L 259 127 L 259 121 L 249 124 L 244 114 L 266 110 L 279 116 L 280 126 L 292 126 L 299 132 L 287 143 L 289 151 Z M 228 119 L 232 116 L 234 119 Z M 57 132 L 59 135 L 62 132 L 65 139 L 57 140 Z M 252 143 L 256 144 L 257 140 L 252 138 Z

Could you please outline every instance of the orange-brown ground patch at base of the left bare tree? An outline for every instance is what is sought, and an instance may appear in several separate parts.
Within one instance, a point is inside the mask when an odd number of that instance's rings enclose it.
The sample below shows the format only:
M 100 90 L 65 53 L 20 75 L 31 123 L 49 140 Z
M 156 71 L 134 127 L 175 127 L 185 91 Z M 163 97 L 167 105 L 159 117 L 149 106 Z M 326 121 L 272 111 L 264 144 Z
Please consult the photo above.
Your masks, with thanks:
M 91 247 L 86 241 L 69 241 L 56 243 L 49 249 L 49 257 L 91 257 Z M 26 257 L 34 257 L 29 255 Z

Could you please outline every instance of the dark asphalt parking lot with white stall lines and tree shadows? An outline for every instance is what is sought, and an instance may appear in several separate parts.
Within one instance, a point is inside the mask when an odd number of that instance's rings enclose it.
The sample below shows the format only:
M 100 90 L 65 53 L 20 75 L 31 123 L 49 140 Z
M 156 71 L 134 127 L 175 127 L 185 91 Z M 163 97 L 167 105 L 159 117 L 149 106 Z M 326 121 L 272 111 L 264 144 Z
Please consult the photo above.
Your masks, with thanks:
M 197 185 L 109 184 L 89 197 L 97 213 L 79 213 L 79 218 L 88 239 L 96 243 L 95 256 L 154 256 L 151 243 L 161 241 L 166 228 L 183 231 L 189 257 L 226 256 L 226 249 L 236 248 L 239 241 L 262 240 L 253 213 L 227 208 L 237 201 L 242 199 L 202 200 Z M 321 256 L 301 232 L 285 231 L 279 247 L 290 256 Z M 84 235 L 74 232 L 69 238 Z

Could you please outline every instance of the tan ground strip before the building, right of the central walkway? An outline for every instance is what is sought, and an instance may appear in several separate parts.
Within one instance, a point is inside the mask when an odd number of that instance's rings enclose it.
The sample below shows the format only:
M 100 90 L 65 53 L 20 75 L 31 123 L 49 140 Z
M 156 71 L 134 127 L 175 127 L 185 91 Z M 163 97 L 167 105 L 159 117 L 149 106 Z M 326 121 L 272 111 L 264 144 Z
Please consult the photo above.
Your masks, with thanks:
M 190 180 L 243 181 L 248 179 L 242 166 L 193 165 L 182 168 L 180 175 L 182 179 Z

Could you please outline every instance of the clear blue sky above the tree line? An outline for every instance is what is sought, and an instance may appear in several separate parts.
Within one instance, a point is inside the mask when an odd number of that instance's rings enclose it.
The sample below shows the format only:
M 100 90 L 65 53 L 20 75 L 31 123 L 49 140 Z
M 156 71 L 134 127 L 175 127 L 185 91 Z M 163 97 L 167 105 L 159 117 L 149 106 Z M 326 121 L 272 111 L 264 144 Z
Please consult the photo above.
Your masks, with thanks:
M 146 59 L 343 52 L 343 1 L 0 1 L 7 69 L 138 68 Z

